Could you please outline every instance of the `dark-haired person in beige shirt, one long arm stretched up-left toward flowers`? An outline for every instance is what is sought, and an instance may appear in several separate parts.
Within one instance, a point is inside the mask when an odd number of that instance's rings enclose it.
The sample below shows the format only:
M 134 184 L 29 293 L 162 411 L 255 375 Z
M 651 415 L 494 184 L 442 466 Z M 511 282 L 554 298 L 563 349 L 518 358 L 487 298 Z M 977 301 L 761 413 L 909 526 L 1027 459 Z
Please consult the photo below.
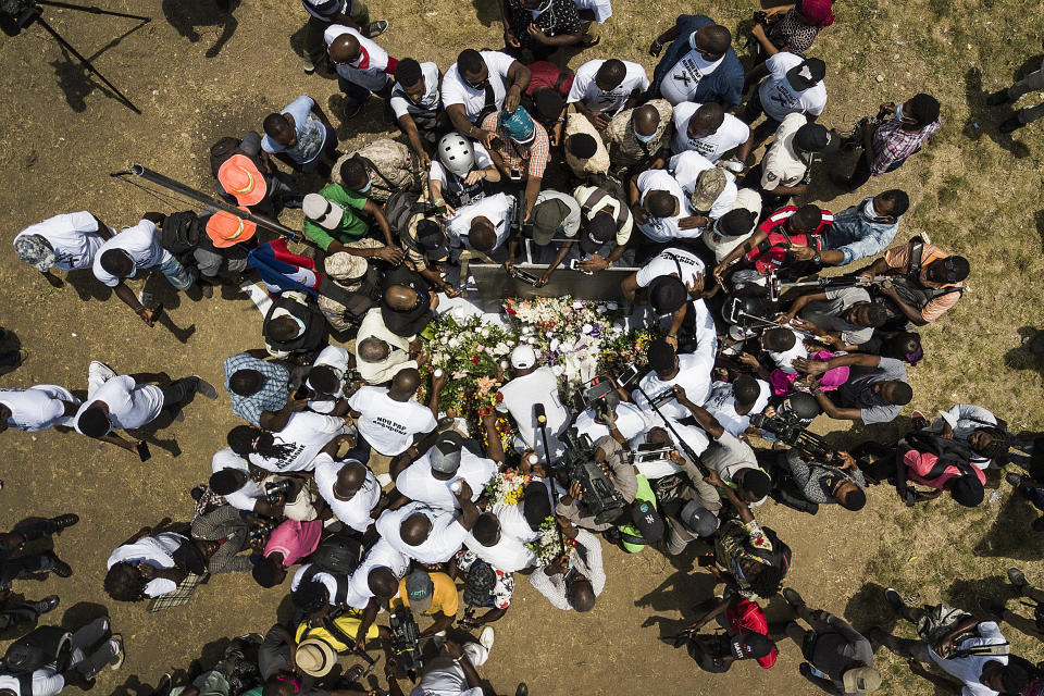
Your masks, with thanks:
M 689 401 L 683 387 L 675 386 L 674 395 L 678 402 L 688 409 L 699 426 L 717 443 L 701 456 L 704 464 L 718 472 L 721 482 L 734 489 L 744 504 L 758 506 L 765 502 L 772 480 L 758 465 L 750 446 L 722 427 L 706 409 Z

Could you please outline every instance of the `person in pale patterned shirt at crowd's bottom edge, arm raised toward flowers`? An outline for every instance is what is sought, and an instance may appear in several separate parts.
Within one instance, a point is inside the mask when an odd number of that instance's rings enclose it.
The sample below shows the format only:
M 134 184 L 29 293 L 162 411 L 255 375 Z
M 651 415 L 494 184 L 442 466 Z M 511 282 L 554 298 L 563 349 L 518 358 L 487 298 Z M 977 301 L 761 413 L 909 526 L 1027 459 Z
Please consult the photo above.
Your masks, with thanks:
M 601 564 L 601 543 L 586 530 L 577 530 L 563 517 L 557 517 L 566 536 L 568 551 L 547 566 L 538 566 L 530 584 L 558 609 L 580 612 L 595 608 L 595 598 L 606 586 Z

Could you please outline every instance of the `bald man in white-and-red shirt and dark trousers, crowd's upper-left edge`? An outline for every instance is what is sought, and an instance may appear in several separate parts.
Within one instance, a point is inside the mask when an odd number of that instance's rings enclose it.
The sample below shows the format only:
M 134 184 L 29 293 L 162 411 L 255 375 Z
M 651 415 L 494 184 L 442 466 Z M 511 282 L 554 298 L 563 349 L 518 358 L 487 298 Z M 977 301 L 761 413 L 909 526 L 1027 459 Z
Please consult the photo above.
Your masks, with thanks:
M 323 34 L 326 55 L 336 66 L 337 84 L 345 92 L 345 119 L 355 117 L 371 94 L 382 99 L 391 96 L 397 61 L 388 52 L 343 24 L 332 24 Z

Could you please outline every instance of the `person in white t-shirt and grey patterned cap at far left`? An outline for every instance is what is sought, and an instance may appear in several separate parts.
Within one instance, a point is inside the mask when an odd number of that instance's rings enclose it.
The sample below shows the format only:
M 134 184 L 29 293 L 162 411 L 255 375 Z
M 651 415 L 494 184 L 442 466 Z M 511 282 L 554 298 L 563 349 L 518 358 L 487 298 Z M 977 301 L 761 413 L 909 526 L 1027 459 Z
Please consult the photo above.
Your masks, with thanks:
M 98 215 L 86 210 L 62 213 L 16 234 L 14 253 L 42 273 L 53 287 L 63 287 L 64 282 L 52 269 L 69 272 L 91 268 L 98 249 L 114 234 Z

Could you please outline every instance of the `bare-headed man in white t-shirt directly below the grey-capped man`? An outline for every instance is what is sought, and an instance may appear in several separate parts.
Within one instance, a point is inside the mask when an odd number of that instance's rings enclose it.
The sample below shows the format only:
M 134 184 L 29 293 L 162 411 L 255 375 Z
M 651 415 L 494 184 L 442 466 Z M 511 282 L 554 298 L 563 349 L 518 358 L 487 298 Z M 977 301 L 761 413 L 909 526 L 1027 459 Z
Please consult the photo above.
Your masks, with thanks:
M 460 510 L 439 510 L 423 502 L 409 502 L 398 510 L 385 510 L 377 518 L 377 534 L 396 550 L 419 563 L 445 563 L 464 543 L 478 519 L 467 482 L 453 492 Z

